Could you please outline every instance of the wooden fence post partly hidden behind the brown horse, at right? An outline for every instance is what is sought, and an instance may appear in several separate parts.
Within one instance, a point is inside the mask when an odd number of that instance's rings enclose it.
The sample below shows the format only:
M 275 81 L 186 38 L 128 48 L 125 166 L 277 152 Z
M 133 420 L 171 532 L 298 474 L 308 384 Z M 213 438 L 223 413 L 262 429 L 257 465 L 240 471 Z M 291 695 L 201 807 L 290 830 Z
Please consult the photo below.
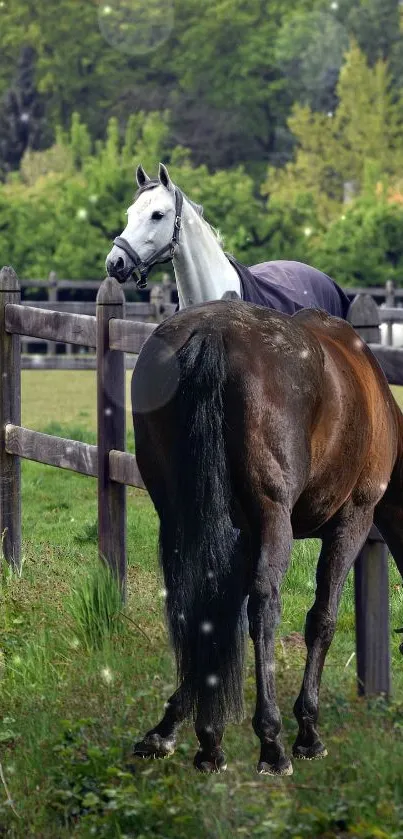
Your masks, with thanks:
M 380 343 L 378 307 L 369 294 L 359 294 L 347 319 L 367 343 Z M 376 527 L 355 563 L 355 620 L 358 692 L 391 692 L 389 642 L 388 549 Z

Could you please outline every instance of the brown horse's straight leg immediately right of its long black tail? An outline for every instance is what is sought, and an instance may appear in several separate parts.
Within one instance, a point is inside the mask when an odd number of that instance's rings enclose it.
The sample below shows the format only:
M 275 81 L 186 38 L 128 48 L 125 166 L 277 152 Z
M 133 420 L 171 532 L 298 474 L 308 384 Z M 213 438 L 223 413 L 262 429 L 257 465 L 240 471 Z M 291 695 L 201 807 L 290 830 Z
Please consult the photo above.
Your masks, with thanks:
M 252 725 L 261 743 L 257 771 L 290 775 L 291 761 L 280 739 L 281 716 L 276 701 L 274 640 L 280 620 L 280 586 L 287 569 L 292 529 L 288 510 L 267 501 L 261 514 L 260 550 L 249 590 L 249 632 L 255 648 L 256 710 Z

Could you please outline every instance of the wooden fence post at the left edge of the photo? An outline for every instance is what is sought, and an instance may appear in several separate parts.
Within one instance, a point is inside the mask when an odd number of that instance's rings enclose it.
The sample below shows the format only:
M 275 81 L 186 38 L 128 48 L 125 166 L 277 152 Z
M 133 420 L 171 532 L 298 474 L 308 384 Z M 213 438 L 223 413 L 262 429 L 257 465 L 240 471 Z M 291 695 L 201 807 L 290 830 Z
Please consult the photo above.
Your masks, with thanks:
M 5 329 L 7 303 L 20 303 L 18 277 L 12 268 L 0 271 L 0 537 L 6 561 L 21 568 L 21 466 L 7 454 L 5 427 L 21 425 L 21 345 L 19 335 Z

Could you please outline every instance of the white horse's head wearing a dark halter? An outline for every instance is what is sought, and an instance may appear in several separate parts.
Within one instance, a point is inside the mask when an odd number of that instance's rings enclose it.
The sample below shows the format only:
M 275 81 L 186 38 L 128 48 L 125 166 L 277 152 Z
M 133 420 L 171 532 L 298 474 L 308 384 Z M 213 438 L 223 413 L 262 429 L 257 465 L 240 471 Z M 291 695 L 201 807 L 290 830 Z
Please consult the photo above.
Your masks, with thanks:
M 137 168 L 138 191 L 127 211 L 128 222 L 106 258 L 108 274 L 123 283 L 137 270 L 139 288 L 153 265 L 172 259 L 179 241 L 183 196 L 160 163 L 158 178 Z

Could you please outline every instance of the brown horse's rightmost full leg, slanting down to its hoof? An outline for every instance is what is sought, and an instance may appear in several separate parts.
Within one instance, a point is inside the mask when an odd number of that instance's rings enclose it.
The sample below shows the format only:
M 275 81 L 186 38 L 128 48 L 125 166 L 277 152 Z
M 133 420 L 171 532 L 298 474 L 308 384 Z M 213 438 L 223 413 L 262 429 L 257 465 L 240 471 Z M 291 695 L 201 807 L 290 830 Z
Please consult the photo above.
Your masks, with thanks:
M 296 758 L 312 760 L 327 751 L 319 739 L 316 723 L 323 665 L 335 627 L 340 596 L 347 574 L 368 536 L 373 508 L 349 502 L 329 523 L 323 536 L 316 572 L 316 597 L 305 624 L 308 650 L 305 673 L 294 713 L 299 733 L 293 746 Z

